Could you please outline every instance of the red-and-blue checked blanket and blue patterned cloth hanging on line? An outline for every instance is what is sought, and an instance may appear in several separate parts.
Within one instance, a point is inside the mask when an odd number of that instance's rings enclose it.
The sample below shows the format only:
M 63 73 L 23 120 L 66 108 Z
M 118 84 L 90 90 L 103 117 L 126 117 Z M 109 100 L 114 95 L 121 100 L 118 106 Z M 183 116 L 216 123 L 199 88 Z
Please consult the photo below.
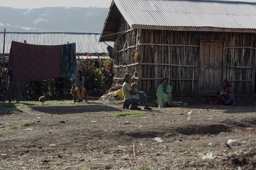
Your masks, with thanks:
M 33 45 L 12 41 L 9 68 L 12 68 L 13 81 L 75 77 L 76 43 Z

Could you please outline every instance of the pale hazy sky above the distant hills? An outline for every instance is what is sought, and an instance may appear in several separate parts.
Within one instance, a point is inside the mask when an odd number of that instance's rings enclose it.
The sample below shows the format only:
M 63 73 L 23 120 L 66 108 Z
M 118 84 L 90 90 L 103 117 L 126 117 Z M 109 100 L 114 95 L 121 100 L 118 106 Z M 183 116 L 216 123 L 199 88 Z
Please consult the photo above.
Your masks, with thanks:
M 42 7 L 110 7 L 112 0 L 1 0 L 0 6 L 12 8 L 42 8 Z M 256 0 L 233 0 L 256 2 Z

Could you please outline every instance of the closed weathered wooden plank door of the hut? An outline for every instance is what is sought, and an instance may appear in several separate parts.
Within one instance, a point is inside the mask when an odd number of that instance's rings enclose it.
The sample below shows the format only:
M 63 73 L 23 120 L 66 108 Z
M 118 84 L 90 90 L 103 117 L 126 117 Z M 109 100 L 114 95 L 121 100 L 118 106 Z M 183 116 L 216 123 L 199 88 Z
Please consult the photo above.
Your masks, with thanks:
M 201 42 L 199 94 L 216 94 L 222 84 L 223 42 Z

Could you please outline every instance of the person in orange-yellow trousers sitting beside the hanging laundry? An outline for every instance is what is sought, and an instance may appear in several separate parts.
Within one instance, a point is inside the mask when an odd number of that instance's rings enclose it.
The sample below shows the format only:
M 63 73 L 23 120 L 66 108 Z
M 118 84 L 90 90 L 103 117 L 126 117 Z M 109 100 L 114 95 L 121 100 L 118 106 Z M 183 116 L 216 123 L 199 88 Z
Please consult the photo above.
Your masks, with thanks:
M 84 88 L 84 77 L 82 77 L 83 72 L 81 70 L 77 70 L 76 72 L 76 78 L 72 78 L 70 79 L 71 82 L 75 81 L 75 86 L 76 86 L 76 94 L 79 98 L 79 100 L 77 102 L 83 102 L 83 97 L 84 97 L 84 92 L 85 92 L 85 88 Z M 81 92 L 81 94 L 80 94 Z

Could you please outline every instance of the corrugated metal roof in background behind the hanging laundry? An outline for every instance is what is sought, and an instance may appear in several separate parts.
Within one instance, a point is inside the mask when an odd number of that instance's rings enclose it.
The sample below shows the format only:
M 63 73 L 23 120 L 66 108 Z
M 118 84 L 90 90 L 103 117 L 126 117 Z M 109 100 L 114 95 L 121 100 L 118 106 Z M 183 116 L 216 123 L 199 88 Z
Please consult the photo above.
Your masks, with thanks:
M 107 47 L 103 42 L 98 43 L 100 33 L 38 33 L 38 32 L 6 32 L 5 53 L 9 53 L 12 41 L 24 42 L 36 45 L 61 45 L 76 42 L 76 53 L 108 53 Z M 3 53 L 3 32 L 0 32 L 0 53 Z

